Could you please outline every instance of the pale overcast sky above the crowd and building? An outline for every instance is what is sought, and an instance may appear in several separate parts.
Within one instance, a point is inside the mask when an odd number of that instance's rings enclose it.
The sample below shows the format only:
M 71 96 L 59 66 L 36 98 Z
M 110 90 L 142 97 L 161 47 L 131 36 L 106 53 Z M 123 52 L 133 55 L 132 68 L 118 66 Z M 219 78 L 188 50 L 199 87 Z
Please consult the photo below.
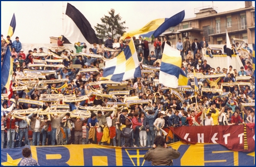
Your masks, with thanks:
M 122 21 L 126 21 L 127 32 L 145 26 L 146 23 L 157 18 L 170 18 L 174 14 L 185 10 L 185 18 L 195 17 L 194 9 L 200 7 L 216 7 L 216 11 L 225 12 L 244 8 L 244 1 L 235 2 L 73 2 L 75 6 L 91 23 L 92 28 L 101 23 L 100 18 L 107 15 L 111 8 L 116 14 L 120 13 Z M 3 2 L 1 1 L 1 34 L 7 36 L 13 13 L 16 16 L 16 36 L 22 43 L 50 43 L 51 36 L 63 34 L 62 13 L 66 12 L 67 1 L 43 2 Z M 255 3 L 253 2 L 253 7 Z

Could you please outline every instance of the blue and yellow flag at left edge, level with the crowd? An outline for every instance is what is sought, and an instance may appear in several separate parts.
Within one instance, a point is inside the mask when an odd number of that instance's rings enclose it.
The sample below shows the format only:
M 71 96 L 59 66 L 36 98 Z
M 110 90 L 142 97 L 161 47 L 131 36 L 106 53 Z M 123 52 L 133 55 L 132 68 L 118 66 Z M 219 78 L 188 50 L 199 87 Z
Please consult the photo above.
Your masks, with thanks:
M 8 48 L 1 68 L 1 84 L 6 87 L 8 95 L 12 94 L 12 71 L 13 59 L 11 57 L 11 50 Z M 10 98 L 11 97 L 9 97 L 9 99 Z

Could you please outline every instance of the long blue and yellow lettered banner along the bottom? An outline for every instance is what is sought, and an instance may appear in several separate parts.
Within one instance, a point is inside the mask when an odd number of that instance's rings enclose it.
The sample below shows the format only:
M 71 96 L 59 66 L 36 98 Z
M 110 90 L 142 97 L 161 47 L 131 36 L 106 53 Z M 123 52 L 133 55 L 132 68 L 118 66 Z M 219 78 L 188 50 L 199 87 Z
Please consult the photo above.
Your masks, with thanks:
M 174 166 L 252 166 L 253 152 L 232 151 L 220 144 L 184 144 L 181 141 L 168 146 L 180 152 L 180 157 L 173 160 Z M 144 160 L 149 148 L 118 148 L 95 144 L 63 146 L 27 146 L 32 151 L 32 158 L 40 166 L 150 166 Z M 24 148 L 24 147 L 23 147 Z M 22 149 L 2 149 L 3 166 L 19 165 Z

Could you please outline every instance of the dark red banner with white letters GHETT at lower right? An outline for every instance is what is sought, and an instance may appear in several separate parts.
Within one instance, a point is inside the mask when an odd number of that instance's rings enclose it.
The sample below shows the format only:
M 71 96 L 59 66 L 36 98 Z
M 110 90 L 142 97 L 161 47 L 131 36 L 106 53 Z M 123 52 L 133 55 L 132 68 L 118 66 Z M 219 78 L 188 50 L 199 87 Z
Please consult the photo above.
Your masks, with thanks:
M 233 151 L 254 151 L 255 124 L 246 125 L 246 132 L 244 125 L 180 126 L 170 127 L 170 129 L 186 143 L 219 143 Z M 245 138 L 247 138 L 248 149 L 245 149 L 247 148 L 247 144 L 244 144 Z

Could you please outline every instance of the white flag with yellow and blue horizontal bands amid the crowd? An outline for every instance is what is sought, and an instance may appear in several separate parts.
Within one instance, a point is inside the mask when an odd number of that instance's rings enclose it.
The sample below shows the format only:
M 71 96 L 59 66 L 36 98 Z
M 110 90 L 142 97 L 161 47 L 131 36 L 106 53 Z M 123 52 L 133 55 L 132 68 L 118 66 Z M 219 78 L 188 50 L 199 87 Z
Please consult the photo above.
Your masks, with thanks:
M 179 50 L 172 48 L 170 45 L 165 45 L 159 73 L 159 83 L 171 88 L 178 88 L 178 85 L 188 85 L 188 77 L 186 77 L 186 74 L 180 67 L 181 57 Z

